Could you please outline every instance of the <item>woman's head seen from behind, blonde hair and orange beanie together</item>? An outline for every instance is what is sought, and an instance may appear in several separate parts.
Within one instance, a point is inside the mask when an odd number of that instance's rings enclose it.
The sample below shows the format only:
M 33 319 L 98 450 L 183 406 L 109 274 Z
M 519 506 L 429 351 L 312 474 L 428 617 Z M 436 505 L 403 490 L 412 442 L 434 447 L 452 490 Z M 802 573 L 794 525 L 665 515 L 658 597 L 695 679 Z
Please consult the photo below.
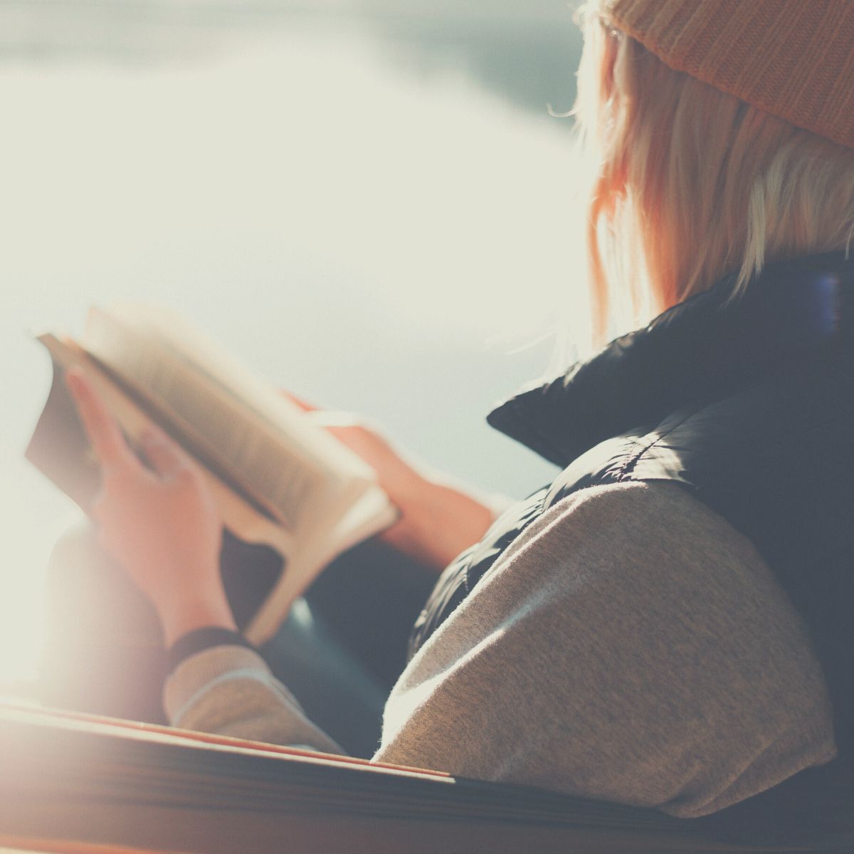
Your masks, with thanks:
M 854 3 L 594 0 L 576 117 L 600 336 L 854 238 Z M 620 321 L 617 320 L 617 323 Z M 611 328 L 609 328 L 611 327 Z

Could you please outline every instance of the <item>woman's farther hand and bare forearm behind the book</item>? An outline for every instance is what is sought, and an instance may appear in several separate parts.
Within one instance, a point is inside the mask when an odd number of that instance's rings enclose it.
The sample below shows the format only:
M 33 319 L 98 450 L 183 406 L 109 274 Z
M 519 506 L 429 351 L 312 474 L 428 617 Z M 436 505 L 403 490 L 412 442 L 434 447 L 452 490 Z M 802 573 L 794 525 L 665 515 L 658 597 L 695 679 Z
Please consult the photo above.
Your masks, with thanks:
M 390 546 L 441 572 L 492 523 L 487 506 L 444 478 L 419 471 L 376 428 L 347 413 L 326 412 L 284 395 L 377 472 L 379 485 L 401 512 L 379 535 Z

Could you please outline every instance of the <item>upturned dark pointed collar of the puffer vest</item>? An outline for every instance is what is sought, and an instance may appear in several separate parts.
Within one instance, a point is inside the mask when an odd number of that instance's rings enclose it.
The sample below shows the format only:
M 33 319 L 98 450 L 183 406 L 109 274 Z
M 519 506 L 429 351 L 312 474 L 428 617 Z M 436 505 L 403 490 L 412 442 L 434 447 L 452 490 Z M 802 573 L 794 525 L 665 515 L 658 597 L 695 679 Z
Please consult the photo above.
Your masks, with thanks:
M 690 404 L 854 356 L 854 260 L 841 252 L 734 275 L 501 404 L 488 423 L 564 467 L 611 436 Z

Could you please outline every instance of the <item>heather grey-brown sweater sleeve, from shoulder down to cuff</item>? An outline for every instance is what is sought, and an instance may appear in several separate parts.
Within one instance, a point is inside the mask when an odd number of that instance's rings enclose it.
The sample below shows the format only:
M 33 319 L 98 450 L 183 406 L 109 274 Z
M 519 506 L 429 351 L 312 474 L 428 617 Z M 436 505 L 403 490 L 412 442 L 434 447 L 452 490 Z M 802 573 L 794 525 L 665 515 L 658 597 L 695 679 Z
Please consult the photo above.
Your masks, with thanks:
M 173 722 L 330 750 L 248 656 L 184 662 Z M 375 758 L 699 816 L 834 752 L 821 667 L 751 543 L 681 488 L 623 484 L 513 541 L 407 666 Z

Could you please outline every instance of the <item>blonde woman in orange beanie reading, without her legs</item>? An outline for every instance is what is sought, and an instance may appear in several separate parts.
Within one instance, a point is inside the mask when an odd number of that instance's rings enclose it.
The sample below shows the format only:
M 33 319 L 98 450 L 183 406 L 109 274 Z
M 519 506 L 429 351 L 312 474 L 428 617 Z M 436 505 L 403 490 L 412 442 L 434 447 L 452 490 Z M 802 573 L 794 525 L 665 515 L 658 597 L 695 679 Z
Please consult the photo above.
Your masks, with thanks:
M 584 13 L 600 335 L 490 422 L 563 471 L 492 520 L 382 444 L 389 538 L 443 564 L 377 760 L 703 816 L 846 752 L 854 717 L 854 8 Z M 154 602 L 173 723 L 336 751 L 236 633 L 220 526 L 81 377 L 102 543 Z M 361 436 L 371 442 L 369 434 Z

